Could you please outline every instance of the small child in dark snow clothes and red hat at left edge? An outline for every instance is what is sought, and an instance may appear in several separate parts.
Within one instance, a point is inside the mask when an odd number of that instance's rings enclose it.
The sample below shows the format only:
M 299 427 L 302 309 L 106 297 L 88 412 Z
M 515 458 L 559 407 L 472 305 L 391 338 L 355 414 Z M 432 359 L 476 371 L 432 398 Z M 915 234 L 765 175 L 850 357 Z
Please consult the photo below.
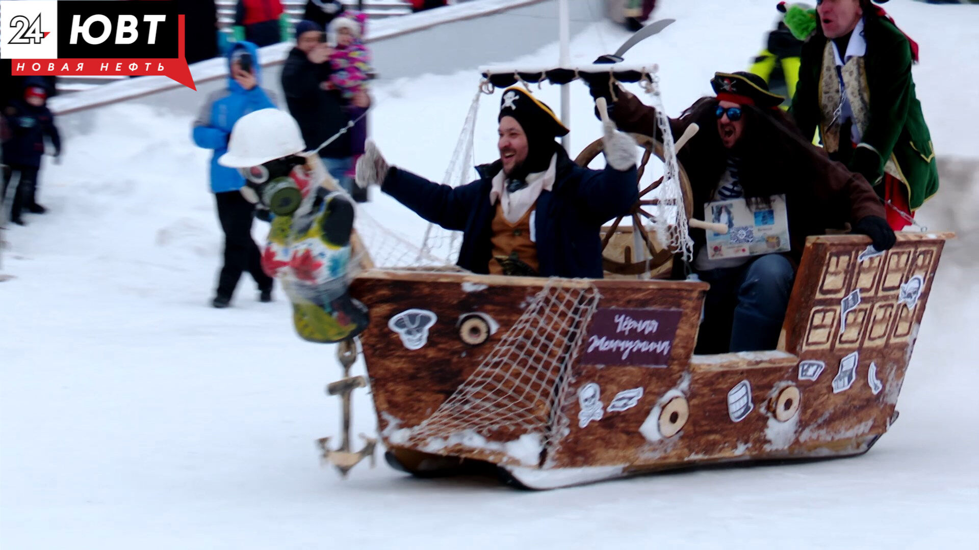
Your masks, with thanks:
M 3 159 L 9 169 L 4 174 L 3 196 L 7 187 L 17 177 L 10 220 L 23 225 L 21 211 L 44 213 L 46 208 L 37 204 L 37 172 L 44 154 L 45 136 L 55 148 L 55 159 L 61 155 L 61 135 L 54 123 L 54 115 L 45 106 L 47 92 L 41 86 L 28 86 L 23 100 L 14 100 L 4 109 L 10 138 L 3 144 Z

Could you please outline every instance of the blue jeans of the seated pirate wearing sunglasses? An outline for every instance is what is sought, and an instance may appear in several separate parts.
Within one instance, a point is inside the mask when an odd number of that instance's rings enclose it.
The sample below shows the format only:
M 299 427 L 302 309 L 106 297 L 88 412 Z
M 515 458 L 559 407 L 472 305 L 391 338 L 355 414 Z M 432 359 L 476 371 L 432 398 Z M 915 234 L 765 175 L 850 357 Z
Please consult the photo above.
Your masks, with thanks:
M 699 273 L 711 284 L 697 353 L 774 349 L 792 294 L 795 269 L 781 254 L 752 258 L 731 268 Z

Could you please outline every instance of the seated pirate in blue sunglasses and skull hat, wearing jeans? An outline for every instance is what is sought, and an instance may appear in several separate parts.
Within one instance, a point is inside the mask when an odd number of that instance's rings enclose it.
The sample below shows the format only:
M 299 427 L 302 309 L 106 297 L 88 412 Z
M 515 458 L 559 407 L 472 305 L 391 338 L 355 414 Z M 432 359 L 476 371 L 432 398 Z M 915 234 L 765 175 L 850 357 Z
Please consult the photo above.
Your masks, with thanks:
M 620 129 L 659 139 L 656 114 L 634 95 L 594 79 L 594 97 L 613 106 Z M 744 201 L 755 212 L 785 205 L 789 251 L 711 258 L 700 229 L 691 229 L 694 259 L 674 261 L 675 278 L 690 272 L 711 284 L 705 300 L 698 353 L 773 349 L 792 291 L 806 237 L 849 222 L 854 233 L 868 235 L 873 247 L 894 246 L 894 231 L 884 206 L 859 173 L 826 158 L 778 109 L 783 98 L 769 92 L 765 80 L 750 72 L 717 72 L 716 96 L 697 100 L 671 131 L 679 136 L 692 123 L 697 133 L 677 152 L 693 191 L 693 211 L 701 217 L 718 201 Z

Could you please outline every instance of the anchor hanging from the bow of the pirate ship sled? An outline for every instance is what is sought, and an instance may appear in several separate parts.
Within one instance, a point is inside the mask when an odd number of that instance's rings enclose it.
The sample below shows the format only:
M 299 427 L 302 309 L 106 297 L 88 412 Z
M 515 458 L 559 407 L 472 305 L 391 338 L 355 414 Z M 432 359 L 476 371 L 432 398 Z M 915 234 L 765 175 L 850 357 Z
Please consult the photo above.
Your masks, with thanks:
M 340 448 L 330 449 L 330 437 L 320 437 L 317 439 L 319 448 L 323 451 L 323 463 L 332 463 L 340 470 L 340 475 L 347 478 L 350 470 L 364 458 L 370 457 L 371 468 L 375 465 L 374 448 L 377 446 L 377 439 L 361 434 L 364 446 L 359 451 L 350 450 L 350 393 L 357 388 L 366 388 L 367 380 L 362 376 L 350 376 L 350 366 L 357 358 L 357 347 L 353 339 L 342 341 L 337 346 L 337 359 L 344 367 L 344 378 L 326 387 L 329 395 L 340 395 L 343 410 L 343 439 Z

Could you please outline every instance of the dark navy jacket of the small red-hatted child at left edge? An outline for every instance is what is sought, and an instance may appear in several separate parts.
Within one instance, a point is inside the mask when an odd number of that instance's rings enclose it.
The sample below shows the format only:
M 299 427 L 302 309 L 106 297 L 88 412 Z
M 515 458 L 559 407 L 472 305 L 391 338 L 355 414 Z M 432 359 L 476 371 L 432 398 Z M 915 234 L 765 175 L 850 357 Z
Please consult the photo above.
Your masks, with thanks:
M 11 134 L 3 144 L 4 162 L 12 166 L 39 167 L 41 155 L 44 155 L 44 136 L 51 140 L 55 156 L 61 154 L 61 136 L 55 126 L 55 117 L 47 107 L 34 107 L 15 100 L 4 115 Z

